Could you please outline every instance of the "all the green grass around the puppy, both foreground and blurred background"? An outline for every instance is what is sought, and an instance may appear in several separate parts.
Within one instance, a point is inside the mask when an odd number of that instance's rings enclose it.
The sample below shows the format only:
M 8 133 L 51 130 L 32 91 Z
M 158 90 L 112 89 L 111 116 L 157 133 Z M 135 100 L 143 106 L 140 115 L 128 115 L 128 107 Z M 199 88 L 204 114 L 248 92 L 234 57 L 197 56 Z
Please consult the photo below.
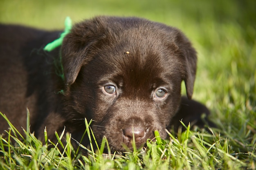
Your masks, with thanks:
M 194 99 L 209 107 L 218 128 L 170 134 L 170 140 L 148 141 L 146 150 L 122 156 L 89 152 L 71 157 L 75 151 L 70 144 L 62 156 L 30 133 L 15 146 L 0 137 L 0 169 L 256 169 L 255 7 L 253 0 L 1 0 L 4 23 L 59 29 L 67 15 L 75 22 L 119 15 L 180 28 L 198 51 Z

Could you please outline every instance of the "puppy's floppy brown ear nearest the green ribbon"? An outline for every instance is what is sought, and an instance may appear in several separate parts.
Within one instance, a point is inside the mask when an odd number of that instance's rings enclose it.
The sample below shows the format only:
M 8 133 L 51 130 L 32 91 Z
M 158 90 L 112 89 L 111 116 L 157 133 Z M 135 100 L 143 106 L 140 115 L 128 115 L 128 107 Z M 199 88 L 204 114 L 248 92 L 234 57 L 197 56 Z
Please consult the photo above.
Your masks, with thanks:
M 93 55 L 89 53 L 99 39 L 95 35 L 96 31 L 97 26 L 88 20 L 73 26 L 63 39 L 61 57 L 66 85 L 73 84 L 81 67 L 92 60 Z

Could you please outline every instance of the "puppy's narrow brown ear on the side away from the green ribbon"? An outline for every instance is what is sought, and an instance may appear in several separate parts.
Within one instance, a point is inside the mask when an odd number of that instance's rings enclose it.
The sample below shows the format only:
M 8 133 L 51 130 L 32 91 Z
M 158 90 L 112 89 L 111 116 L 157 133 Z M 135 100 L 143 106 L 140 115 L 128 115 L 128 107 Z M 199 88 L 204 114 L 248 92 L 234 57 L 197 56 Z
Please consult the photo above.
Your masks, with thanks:
M 182 53 L 181 55 L 183 55 L 185 62 L 184 82 L 186 85 L 186 94 L 187 97 L 191 99 L 193 95 L 197 64 L 196 51 L 183 33 L 179 32 L 176 38 L 179 50 Z

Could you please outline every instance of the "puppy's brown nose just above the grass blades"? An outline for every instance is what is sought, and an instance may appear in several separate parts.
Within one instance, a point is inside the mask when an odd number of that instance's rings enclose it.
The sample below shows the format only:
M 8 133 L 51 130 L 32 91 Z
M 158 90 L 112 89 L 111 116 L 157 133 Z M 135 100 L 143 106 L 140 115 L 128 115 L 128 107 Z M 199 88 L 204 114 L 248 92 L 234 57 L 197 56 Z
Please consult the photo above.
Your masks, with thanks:
M 144 137 L 144 128 L 141 127 L 130 127 L 124 129 L 124 136 L 128 139 L 128 141 L 131 141 L 133 139 L 132 132 L 134 133 L 134 139 L 135 142 L 140 142 L 141 139 Z

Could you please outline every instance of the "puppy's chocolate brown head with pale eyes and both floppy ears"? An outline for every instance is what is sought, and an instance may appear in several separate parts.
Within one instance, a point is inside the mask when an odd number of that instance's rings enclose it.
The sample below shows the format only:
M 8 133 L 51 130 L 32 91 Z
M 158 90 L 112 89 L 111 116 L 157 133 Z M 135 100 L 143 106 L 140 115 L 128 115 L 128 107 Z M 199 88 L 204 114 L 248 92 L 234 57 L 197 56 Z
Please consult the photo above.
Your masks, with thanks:
M 193 94 L 196 55 L 177 29 L 139 18 L 98 17 L 77 24 L 62 46 L 70 114 L 92 118 L 113 150 L 166 137 L 181 82 Z

